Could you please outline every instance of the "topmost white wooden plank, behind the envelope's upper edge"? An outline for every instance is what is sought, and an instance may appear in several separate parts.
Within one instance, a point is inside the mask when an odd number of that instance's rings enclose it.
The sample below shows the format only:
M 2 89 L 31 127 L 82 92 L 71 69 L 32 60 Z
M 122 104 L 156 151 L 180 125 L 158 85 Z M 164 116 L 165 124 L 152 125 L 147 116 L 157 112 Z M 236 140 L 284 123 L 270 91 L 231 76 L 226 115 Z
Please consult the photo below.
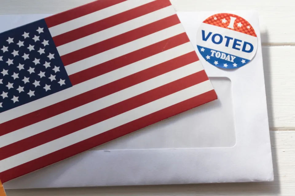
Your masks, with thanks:
M 21 13 L 58 13 L 93 0 L 1 0 L 0 14 Z M 295 44 L 295 1 L 192 1 L 171 0 L 177 11 L 212 11 L 212 10 L 257 10 L 259 12 L 262 43 L 264 44 Z M 17 6 L 15 6 L 17 3 Z

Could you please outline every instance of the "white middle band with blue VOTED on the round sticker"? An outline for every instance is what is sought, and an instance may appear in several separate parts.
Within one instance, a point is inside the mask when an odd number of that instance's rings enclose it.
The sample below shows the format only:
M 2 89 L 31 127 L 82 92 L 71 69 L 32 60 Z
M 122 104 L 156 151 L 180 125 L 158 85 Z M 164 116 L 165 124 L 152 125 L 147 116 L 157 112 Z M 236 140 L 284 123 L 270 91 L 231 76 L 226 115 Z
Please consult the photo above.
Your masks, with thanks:
M 205 37 L 208 35 L 209 32 L 212 32 L 210 38 L 208 38 L 207 41 L 204 41 L 202 39 L 202 31 L 197 32 L 197 38 L 198 38 L 197 39 L 197 44 L 200 45 L 200 46 L 208 47 L 210 49 L 218 50 L 218 51 L 221 51 L 221 52 L 226 52 L 228 54 L 235 55 L 235 56 L 238 56 L 238 57 L 241 57 L 241 58 L 246 58 L 246 59 L 249 59 L 249 60 L 251 60 L 251 58 L 252 58 L 251 56 L 253 56 L 253 53 L 254 54 L 256 53 L 257 43 L 258 43 L 257 42 L 257 37 L 250 36 L 250 35 L 247 35 L 247 34 L 242 33 L 242 32 L 237 32 L 237 31 L 233 31 L 233 30 L 230 30 L 230 29 L 226 29 L 226 28 L 223 28 L 223 27 L 209 25 L 209 24 L 206 24 L 206 23 L 202 23 L 200 25 L 199 29 L 205 30 Z M 221 34 L 223 36 L 222 43 L 215 44 L 215 43 L 212 42 L 212 36 L 215 33 Z M 226 39 L 224 38 L 224 36 L 229 36 L 229 37 L 232 37 L 233 39 L 242 40 L 242 43 L 237 42 L 237 43 L 241 44 L 241 46 L 238 46 L 238 45 L 236 46 L 237 48 L 240 48 L 240 50 L 236 50 L 236 49 L 232 48 L 234 40 L 230 40 L 229 46 L 226 47 L 225 46 Z M 219 38 L 216 38 L 216 40 L 218 40 L 218 39 Z M 242 47 L 243 47 L 242 44 L 244 43 L 244 41 L 247 41 L 247 42 L 250 42 L 250 43 L 253 44 L 254 50 L 251 53 L 242 52 Z

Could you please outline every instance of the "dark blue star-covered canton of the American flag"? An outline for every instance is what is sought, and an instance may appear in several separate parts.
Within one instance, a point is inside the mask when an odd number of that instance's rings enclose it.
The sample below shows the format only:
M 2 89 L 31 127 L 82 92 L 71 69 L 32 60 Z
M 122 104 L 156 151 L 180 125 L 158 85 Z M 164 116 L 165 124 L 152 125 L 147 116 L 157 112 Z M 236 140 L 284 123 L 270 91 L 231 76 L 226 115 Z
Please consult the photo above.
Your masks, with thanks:
M 44 19 L 0 34 L 0 113 L 71 86 Z

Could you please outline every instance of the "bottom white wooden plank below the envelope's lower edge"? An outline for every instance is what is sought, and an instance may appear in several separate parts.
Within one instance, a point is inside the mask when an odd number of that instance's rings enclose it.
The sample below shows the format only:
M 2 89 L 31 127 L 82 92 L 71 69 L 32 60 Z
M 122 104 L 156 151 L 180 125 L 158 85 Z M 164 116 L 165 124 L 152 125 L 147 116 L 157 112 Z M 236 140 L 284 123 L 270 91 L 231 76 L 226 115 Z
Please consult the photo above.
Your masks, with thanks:
M 275 181 L 266 183 L 226 183 L 132 187 L 88 187 L 62 189 L 7 190 L 8 196 L 262 196 L 295 195 L 295 131 L 270 132 Z

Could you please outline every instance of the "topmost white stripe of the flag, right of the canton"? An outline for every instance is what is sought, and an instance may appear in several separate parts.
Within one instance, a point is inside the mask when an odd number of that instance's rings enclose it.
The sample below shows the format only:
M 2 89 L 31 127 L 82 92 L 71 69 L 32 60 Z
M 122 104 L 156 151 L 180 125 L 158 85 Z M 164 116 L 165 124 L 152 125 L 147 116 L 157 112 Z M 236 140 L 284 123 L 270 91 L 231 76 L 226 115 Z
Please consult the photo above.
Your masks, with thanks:
M 51 36 L 57 36 L 60 34 L 63 34 L 65 32 L 74 30 L 76 28 L 83 27 L 85 25 L 89 25 L 93 22 L 100 21 L 104 18 L 111 17 L 113 15 L 116 15 L 118 13 L 125 12 L 129 9 L 133 9 L 138 6 L 142 6 L 144 4 L 147 4 L 149 2 L 152 2 L 155 0 L 128 0 L 125 2 L 118 3 L 116 5 L 98 10 L 96 12 L 87 14 L 85 16 L 81 16 L 79 18 L 73 19 L 71 21 L 67 21 L 65 23 L 62 23 L 60 25 L 56 25 L 54 27 L 49 28 L 49 32 Z

